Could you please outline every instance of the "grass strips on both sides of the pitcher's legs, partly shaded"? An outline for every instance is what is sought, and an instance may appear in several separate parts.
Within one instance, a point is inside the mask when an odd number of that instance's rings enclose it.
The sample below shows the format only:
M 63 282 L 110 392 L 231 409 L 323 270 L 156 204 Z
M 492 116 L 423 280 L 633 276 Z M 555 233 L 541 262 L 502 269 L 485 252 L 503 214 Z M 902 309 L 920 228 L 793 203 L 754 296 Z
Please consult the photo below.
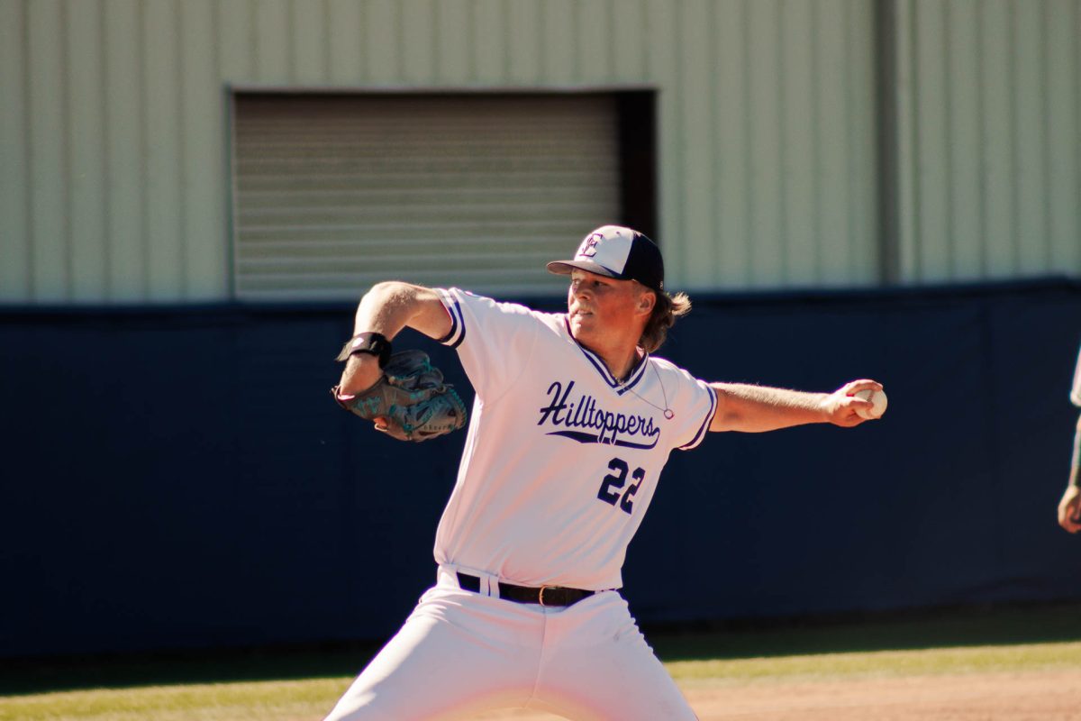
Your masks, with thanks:
M 1081 671 L 1081 605 L 774 622 L 648 637 L 688 686 Z M 0 664 L 0 721 L 318 720 L 374 645 Z

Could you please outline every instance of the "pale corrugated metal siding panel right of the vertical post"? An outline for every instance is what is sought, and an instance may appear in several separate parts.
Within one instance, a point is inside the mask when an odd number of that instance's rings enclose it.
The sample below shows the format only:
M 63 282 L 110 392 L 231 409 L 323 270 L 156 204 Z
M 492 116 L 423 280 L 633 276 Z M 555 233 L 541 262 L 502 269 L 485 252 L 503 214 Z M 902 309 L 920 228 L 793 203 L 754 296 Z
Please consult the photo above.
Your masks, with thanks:
M 1081 271 L 1081 2 L 902 0 L 900 276 Z

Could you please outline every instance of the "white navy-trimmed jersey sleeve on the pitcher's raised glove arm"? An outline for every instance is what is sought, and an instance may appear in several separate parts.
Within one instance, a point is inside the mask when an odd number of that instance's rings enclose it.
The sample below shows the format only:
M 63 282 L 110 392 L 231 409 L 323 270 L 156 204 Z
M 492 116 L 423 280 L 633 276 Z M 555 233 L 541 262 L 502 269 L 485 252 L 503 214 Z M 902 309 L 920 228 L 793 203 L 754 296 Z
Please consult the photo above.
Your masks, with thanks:
M 478 397 L 495 400 L 524 372 L 542 322 L 535 311 L 457 288 L 435 289 L 451 317 L 439 343 L 455 348 Z

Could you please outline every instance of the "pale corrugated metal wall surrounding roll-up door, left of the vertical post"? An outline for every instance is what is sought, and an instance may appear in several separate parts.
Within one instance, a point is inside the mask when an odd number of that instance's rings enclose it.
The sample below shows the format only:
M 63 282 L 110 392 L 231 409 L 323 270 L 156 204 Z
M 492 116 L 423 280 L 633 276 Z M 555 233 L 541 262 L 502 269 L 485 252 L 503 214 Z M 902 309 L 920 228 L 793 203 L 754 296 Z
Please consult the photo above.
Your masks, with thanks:
M 0 0 L 0 301 L 226 298 L 232 83 L 653 84 L 673 288 L 873 282 L 870 30 L 871 0 Z

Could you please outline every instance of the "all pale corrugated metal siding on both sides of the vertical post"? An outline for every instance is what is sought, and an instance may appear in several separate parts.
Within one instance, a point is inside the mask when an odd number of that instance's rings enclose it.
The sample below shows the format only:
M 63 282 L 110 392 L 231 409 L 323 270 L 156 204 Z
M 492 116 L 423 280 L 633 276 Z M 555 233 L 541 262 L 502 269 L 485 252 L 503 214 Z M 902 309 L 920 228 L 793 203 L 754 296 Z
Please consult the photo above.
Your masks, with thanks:
M 0 0 L 0 301 L 228 297 L 230 83 L 653 85 L 673 288 L 873 283 L 873 5 Z M 895 5 L 900 276 L 1081 271 L 1081 0 Z

